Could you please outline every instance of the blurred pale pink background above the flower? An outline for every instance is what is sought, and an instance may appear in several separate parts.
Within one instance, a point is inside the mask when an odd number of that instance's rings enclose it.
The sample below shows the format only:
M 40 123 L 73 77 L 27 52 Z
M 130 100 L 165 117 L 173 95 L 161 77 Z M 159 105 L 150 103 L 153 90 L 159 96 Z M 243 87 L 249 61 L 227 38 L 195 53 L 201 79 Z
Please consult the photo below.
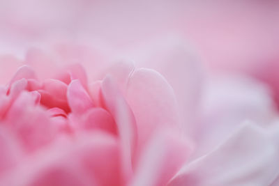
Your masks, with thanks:
M 82 42 L 110 52 L 179 38 L 214 69 L 278 59 L 278 1 L 0 2 L 1 52 L 42 41 Z

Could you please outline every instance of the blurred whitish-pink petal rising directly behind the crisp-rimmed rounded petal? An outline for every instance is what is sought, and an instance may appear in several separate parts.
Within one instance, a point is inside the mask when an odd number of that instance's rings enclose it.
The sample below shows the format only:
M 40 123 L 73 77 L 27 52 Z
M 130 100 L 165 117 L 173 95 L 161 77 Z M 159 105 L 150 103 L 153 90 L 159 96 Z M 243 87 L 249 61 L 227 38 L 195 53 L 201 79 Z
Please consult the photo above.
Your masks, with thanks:
M 158 71 L 174 89 L 183 122 L 183 132 L 193 134 L 204 82 L 202 59 L 193 47 L 180 37 L 165 36 L 140 49 L 130 58 L 137 66 Z M 147 46 L 147 47 L 146 47 Z

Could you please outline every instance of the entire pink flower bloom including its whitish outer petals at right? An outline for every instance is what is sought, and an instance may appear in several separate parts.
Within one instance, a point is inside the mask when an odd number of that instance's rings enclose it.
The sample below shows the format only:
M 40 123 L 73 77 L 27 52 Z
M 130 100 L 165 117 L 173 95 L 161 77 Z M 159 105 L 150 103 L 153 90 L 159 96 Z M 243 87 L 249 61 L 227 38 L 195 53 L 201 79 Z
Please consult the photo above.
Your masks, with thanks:
M 2 56 L 0 185 L 278 185 L 269 88 L 208 76 L 177 43 L 144 54 Z

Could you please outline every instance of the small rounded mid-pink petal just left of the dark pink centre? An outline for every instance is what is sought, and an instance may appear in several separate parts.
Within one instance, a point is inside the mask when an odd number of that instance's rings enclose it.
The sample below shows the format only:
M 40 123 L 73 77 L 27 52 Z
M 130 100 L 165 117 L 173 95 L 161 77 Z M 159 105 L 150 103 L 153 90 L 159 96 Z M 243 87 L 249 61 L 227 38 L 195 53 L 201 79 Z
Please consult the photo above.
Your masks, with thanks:
M 6 125 L 17 134 L 27 150 L 47 144 L 56 134 L 56 127 L 47 112 L 36 102 L 37 94 L 23 91 L 6 114 Z

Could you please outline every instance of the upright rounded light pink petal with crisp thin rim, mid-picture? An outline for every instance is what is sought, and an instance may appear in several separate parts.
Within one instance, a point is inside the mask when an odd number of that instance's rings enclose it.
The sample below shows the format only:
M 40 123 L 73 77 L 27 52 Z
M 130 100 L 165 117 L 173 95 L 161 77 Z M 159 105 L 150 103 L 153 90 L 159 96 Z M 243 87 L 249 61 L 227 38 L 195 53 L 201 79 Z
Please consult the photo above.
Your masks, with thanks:
M 174 92 L 158 72 L 135 70 L 128 82 L 126 99 L 135 114 L 140 148 L 158 128 L 179 127 Z

